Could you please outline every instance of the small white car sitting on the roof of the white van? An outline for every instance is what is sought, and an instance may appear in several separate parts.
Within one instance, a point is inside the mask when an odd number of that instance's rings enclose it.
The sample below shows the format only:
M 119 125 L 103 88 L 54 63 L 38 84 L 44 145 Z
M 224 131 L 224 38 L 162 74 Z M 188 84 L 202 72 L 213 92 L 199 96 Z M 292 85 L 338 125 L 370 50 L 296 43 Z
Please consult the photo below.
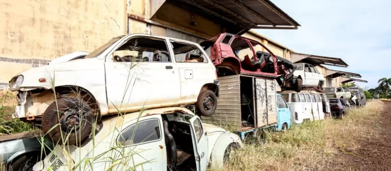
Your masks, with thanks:
M 316 87 L 323 90 L 325 77 L 314 66 L 308 63 L 295 63 L 294 66 L 293 76 L 297 78 L 298 85 L 296 91 L 300 91 L 301 87 Z

